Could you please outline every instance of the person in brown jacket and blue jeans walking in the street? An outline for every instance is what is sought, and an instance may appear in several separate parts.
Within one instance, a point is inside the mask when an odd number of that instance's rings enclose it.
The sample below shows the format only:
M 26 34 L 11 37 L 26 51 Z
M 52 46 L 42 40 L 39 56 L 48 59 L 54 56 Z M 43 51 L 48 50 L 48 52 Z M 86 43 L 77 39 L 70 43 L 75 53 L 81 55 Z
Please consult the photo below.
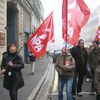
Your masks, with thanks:
M 67 48 L 62 48 L 62 54 L 57 58 L 55 69 L 58 72 L 58 100 L 63 100 L 63 88 L 66 84 L 67 100 L 72 99 L 72 83 L 75 62 Z

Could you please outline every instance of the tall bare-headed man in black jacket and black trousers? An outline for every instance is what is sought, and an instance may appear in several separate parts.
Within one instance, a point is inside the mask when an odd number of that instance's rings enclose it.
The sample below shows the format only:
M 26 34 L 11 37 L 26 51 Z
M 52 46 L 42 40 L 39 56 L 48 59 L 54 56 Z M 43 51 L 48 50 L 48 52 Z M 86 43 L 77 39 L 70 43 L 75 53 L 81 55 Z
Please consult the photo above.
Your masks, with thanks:
M 84 40 L 80 39 L 78 45 L 70 50 L 72 56 L 75 59 L 75 74 L 73 82 L 73 95 L 82 96 L 82 84 L 87 65 L 87 51 L 84 48 Z M 77 82 L 78 78 L 78 82 Z

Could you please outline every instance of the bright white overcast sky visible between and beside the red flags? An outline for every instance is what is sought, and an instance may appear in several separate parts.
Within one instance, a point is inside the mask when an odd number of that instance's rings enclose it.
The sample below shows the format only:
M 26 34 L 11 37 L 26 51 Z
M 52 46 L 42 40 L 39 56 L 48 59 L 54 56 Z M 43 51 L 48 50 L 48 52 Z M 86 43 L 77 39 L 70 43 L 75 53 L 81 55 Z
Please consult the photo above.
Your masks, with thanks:
M 100 5 L 100 0 L 84 0 L 90 11 L 96 9 Z M 62 10 L 62 0 L 41 0 L 43 8 L 45 11 L 44 17 L 46 18 L 54 10 L 54 34 L 55 34 L 55 44 L 62 44 L 62 26 L 61 26 L 61 10 Z

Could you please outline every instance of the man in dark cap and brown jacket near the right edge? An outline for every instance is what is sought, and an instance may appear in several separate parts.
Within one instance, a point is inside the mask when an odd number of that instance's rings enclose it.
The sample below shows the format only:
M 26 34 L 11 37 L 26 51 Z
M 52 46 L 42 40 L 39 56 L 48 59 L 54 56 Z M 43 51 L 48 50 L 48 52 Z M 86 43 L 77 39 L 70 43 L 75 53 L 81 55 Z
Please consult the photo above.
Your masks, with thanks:
M 93 49 L 89 52 L 89 56 L 88 56 L 89 65 L 91 67 L 91 78 L 92 78 L 91 93 L 90 93 L 91 95 L 93 95 L 95 92 L 94 74 L 95 74 L 96 66 L 98 66 L 98 61 L 100 59 L 100 47 L 99 47 L 100 42 L 95 40 L 92 42 L 92 44 L 93 44 Z

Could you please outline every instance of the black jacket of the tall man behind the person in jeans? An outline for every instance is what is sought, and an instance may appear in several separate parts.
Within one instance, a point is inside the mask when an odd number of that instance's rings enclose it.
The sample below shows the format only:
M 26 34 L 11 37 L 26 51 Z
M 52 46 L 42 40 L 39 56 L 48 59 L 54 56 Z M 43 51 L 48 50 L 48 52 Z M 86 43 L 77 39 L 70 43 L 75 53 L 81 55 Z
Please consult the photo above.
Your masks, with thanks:
M 70 53 L 75 59 L 76 69 L 81 70 L 86 68 L 88 54 L 85 48 L 80 48 L 79 46 L 76 46 L 70 50 Z

